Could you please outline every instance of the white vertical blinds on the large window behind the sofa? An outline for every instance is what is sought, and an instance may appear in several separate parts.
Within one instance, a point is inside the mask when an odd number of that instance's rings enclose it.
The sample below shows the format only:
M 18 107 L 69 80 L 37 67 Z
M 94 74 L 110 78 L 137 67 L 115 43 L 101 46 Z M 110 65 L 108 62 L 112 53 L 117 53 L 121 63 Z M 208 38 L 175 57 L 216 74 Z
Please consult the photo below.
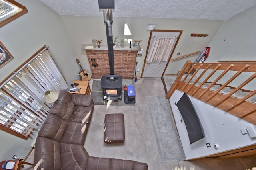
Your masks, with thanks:
M 28 137 L 52 106 L 45 102 L 44 93 L 61 89 L 68 89 L 68 84 L 46 49 L 0 89 L 0 125 Z

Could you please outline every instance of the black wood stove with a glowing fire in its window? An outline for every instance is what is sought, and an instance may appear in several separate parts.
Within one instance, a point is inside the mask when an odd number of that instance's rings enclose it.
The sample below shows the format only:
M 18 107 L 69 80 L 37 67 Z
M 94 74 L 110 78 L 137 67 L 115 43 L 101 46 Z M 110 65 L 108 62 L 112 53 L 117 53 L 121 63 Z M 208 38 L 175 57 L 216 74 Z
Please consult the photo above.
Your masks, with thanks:
M 100 81 L 103 100 L 122 100 L 122 84 L 120 75 L 103 75 Z

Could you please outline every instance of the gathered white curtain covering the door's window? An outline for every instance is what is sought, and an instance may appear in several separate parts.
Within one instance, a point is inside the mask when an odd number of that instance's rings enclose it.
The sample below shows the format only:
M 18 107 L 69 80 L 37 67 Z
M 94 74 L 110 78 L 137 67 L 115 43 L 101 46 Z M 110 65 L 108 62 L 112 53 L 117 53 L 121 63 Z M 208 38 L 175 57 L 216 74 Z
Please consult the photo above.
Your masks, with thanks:
M 159 63 L 168 61 L 176 37 L 154 37 L 147 61 Z

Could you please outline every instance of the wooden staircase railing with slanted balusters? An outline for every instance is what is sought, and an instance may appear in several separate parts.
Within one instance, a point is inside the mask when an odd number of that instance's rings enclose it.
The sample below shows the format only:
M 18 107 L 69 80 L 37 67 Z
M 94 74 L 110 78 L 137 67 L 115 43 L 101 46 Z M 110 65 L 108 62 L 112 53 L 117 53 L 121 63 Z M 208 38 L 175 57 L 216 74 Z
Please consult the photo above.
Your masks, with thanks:
M 248 78 L 243 80 L 243 82 L 239 81 L 241 76 L 245 77 L 245 75 Z M 214 85 L 220 84 L 219 80 L 222 80 L 224 83 L 217 90 L 211 90 Z M 225 87 L 229 87 L 228 85 L 234 80 L 236 83 L 232 84 L 234 89 L 231 92 L 228 94 L 220 93 Z M 177 89 L 250 123 L 256 124 L 256 103 L 247 101 L 248 98 L 256 94 L 256 90 L 250 90 L 249 94 L 241 98 L 232 96 L 238 90 L 243 90 L 246 84 L 252 84 L 255 81 L 255 62 L 192 63 L 187 61 L 178 73 L 170 90 L 168 90 L 166 98 L 170 99 Z M 208 82 L 210 82 L 210 85 L 207 88 L 203 88 L 203 85 Z M 234 86 L 234 84 L 237 85 Z

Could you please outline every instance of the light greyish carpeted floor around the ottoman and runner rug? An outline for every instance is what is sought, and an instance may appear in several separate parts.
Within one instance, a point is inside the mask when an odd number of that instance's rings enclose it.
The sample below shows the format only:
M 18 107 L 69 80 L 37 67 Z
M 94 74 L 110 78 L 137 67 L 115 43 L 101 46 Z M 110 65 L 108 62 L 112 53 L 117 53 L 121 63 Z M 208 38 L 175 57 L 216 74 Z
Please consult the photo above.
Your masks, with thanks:
M 90 81 L 92 83 L 92 81 Z M 92 87 L 92 85 L 90 84 Z M 148 170 L 245 170 L 256 166 L 256 157 L 216 159 L 203 158 L 190 161 L 160 162 L 154 129 L 146 96 L 165 96 L 160 78 L 141 78 L 134 82 L 135 106 L 94 107 L 84 147 L 90 156 L 110 157 L 146 162 Z M 121 144 L 103 141 L 104 116 L 107 113 L 124 113 L 126 139 Z M 30 154 L 33 162 L 34 153 Z M 32 170 L 25 166 L 24 170 Z

